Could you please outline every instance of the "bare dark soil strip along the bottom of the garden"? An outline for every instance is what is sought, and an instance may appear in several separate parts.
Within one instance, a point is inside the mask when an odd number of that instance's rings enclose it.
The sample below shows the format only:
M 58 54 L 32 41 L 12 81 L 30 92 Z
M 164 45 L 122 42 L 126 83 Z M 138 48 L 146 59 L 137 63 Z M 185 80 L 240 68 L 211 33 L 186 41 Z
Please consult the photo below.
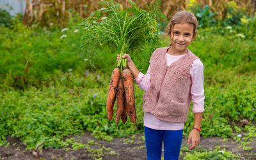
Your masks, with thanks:
M 143 140 L 143 133 L 135 135 L 130 138 L 114 138 L 112 142 L 106 142 L 95 139 L 91 133 L 86 132 L 85 135 L 69 136 L 68 138 L 75 138 L 79 143 L 90 143 L 90 149 L 73 150 L 71 145 L 63 149 L 47 148 L 39 154 L 42 159 L 97 159 L 102 158 L 106 160 L 112 159 L 146 159 L 145 142 Z M 26 150 L 26 145 L 20 142 L 18 138 L 8 137 L 10 145 L 8 147 L 0 147 L 0 159 L 36 159 L 33 156 L 33 150 Z M 14 145 L 13 145 L 14 144 Z M 186 138 L 183 138 L 182 146 L 186 145 Z M 251 142 L 250 147 L 253 150 L 244 151 L 239 149 L 238 143 L 234 143 L 232 139 L 223 142 L 222 138 L 200 138 L 200 147 L 206 149 L 214 149 L 216 145 L 225 145 L 225 149 L 231 151 L 233 154 L 242 155 L 241 159 L 256 159 L 256 156 L 249 156 L 256 152 L 256 141 Z M 35 153 L 34 153 L 35 154 Z M 254 154 L 255 155 L 255 154 Z M 180 157 L 182 159 L 182 157 Z

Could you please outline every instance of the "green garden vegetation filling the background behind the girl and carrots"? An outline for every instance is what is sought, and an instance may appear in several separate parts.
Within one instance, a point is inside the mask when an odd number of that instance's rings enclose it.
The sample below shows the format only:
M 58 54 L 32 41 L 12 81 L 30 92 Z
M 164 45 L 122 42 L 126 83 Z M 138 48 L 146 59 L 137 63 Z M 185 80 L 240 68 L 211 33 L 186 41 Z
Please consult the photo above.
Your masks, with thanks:
M 203 8 L 198 1 L 186 4 L 200 24 L 189 49 L 205 67 L 201 135 L 238 140 L 236 135 L 244 132 L 241 146 L 252 150 L 248 144 L 256 135 L 256 15 L 236 1 L 228 1 L 225 15 L 220 15 L 214 4 Z M 48 27 L 36 22 L 27 27 L 20 15 L 11 17 L 0 10 L 0 145 L 8 143 L 8 135 L 35 149 L 40 142 L 45 142 L 44 147 L 65 146 L 64 136 L 84 130 L 103 140 L 143 131 L 143 91 L 136 84 L 137 130 L 130 122 L 120 122 L 117 130 L 115 122 L 108 121 L 106 98 L 116 54 L 107 50 L 99 50 L 94 57 L 84 54 L 80 45 L 86 29 L 79 25 L 83 21 L 79 13 L 72 13 L 60 29 L 62 23 L 51 25 L 47 18 Z M 159 34 L 165 25 L 157 22 Z M 170 43 L 165 36 L 160 42 L 159 47 Z M 148 68 L 149 50 L 131 55 L 142 73 Z M 95 67 L 89 60 L 97 61 Z M 243 119 L 248 126 L 241 124 Z M 189 112 L 184 136 L 191 126 L 193 113 Z

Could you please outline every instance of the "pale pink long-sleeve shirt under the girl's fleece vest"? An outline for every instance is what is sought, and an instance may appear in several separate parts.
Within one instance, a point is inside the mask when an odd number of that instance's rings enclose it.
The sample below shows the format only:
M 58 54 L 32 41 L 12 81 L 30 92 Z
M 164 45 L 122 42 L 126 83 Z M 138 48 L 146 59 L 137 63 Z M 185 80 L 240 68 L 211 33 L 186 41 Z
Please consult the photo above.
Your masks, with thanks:
M 173 62 L 180 59 L 182 55 L 170 55 L 166 53 L 166 64 L 170 66 Z M 191 101 L 193 102 L 193 113 L 204 112 L 204 65 L 200 59 L 196 59 L 192 64 L 189 71 L 191 78 Z M 139 73 L 138 77 L 134 79 L 136 84 L 147 92 L 150 88 L 150 67 L 146 75 Z M 154 114 L 150 112 L 144 113 L 144 126 L 157 130 L 180 130 L 184 129 L 184 123 L 171 123 L 159 120 Z

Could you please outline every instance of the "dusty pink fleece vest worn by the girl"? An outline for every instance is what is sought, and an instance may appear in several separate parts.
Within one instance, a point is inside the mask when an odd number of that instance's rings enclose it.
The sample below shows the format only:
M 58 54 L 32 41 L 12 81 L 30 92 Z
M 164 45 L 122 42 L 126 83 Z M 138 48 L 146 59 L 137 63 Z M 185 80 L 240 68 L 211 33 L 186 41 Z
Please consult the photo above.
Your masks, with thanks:
M 143 111 L 151 112 L 159 120 L 184 123 L 188 119 L 191 101 L 190 67 L 195 54 L 188 53 L 166 66 L 166 51 L 157 48 L 150 59 L 150 89 L 143 95 Z

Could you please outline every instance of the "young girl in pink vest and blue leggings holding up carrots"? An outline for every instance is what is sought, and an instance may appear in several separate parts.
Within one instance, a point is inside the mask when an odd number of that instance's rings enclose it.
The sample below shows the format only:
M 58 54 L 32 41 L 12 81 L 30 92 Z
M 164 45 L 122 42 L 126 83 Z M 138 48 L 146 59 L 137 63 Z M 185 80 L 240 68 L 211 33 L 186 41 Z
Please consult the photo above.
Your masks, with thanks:
M 200 126 L 204 112 L 204 66 L 190 50 L 195 40 L 198 22 L 189 11 L 178 11 L 168 24 L 170 47 L 157 48 L 150 58 L 146 75 L 143 75 L 128 54 L 127 66 L 143 95 L 144 133 L 147 159 L 179 159 L 184 122 L 193 102 L 194 126 L 188 137 L 189 149 L 200 141 Z M 117 62 L 119 60 L 117 55 Z

